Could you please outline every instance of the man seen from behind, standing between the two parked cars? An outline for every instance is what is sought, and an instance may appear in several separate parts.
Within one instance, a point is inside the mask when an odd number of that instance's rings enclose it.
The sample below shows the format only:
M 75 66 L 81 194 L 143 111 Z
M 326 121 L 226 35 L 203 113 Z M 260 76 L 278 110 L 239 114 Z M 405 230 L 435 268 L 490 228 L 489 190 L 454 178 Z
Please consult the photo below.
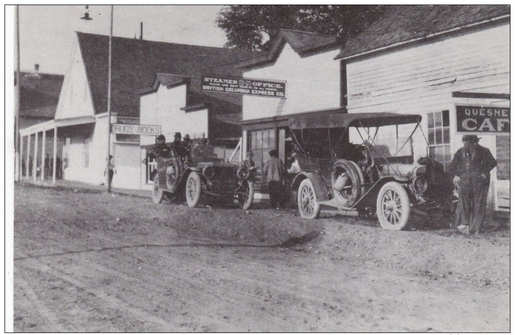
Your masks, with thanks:
M 283 178 L 284 178 L 284 164 L 279 159 L 279 154 L 276 149 L 268 152 L 270 159 L 266 162 L 263 168 L 264 179 L 268 183 L 268 192 L 270 195 L 270 204 L 276 209 L 284 207 L 283 199 Z

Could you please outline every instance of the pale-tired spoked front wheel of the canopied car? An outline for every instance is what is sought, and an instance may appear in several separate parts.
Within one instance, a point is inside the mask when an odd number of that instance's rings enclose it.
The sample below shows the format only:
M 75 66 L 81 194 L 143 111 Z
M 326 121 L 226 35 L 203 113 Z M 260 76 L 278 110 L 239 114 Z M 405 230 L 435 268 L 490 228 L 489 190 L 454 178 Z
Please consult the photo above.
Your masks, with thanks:
M 411 208 L 408 193 L 401 184 L 384 184 L 377 195 L 376 205 L 377 218 L 383 228 L 400 231 L 408 223 Z

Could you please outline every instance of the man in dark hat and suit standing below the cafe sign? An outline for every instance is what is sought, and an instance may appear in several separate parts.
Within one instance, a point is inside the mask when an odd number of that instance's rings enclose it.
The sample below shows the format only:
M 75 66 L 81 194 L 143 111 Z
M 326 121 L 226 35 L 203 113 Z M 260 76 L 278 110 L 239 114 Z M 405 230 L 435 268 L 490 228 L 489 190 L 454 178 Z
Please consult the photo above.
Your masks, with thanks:
M 490 171 L 497 162 L 490 150 L 478 144 L 476 135 L 464 135 L 462 141 L 464 146 L 456 151 L 450 166 L 459 187 L 456 225 L 461 233 L 474 234 L 483 228 Z

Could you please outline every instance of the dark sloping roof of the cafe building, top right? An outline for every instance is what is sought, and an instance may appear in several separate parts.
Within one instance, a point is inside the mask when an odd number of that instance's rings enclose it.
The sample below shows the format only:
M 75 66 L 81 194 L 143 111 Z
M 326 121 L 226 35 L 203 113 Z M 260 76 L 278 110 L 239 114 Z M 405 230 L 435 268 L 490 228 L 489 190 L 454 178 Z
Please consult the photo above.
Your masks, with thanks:
M 367 54 L 509 14 L 509 5 L 388 6 L 383 17 L 347 41 L 336 59 Z

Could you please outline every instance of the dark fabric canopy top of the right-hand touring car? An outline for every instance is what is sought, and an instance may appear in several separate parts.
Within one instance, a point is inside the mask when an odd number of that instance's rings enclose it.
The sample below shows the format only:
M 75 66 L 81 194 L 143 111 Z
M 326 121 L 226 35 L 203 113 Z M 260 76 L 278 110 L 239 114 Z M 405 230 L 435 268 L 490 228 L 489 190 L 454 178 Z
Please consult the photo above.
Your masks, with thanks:
M 289 119 L 291 129 L 382 127 L 416 124 L 422 120 L 418 114 L 397 113 L 334 113 L 296 115 Z

